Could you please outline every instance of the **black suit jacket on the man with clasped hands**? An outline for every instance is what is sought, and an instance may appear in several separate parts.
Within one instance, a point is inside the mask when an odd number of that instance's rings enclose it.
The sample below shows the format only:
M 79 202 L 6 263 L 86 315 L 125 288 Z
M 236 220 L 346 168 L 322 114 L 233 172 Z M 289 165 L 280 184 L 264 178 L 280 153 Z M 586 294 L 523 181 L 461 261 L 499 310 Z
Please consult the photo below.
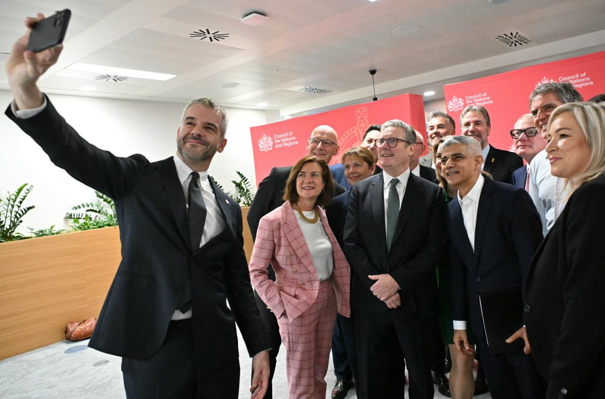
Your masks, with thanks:
M 351 306 L 374 312 L 397 311 L 409 319 L 435 317 L 439 291 L 435 267 L 446 250 L 443 193 L 410 173 L 391 250 L 387 251 L 383 175 L 353 186 L 344 227 L 344 253 L 352 273 Z M 389 310 L 374 296 L 368 274 L 390 274 L 401 290 L 402 306 Z

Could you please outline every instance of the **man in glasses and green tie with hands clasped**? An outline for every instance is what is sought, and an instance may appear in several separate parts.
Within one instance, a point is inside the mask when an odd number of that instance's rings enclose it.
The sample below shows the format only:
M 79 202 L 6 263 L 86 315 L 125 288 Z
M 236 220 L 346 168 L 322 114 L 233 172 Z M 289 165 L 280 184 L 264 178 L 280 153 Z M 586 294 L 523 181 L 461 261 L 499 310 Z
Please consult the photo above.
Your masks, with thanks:
M 430 357 L 439 309 L 435 267 L 443 259 L 443 192 L 410 172 L 416 133 L 401 120 L 381 126 L 383 171 L 355 184 L 344 227 L 353 270 L 360 398 L 402 397 L 401 348 L 411 399 L 432 398 Z M 398 351 L 398 349 L 397 349 Z M 385 372 L 389 370 L 389 372 Z

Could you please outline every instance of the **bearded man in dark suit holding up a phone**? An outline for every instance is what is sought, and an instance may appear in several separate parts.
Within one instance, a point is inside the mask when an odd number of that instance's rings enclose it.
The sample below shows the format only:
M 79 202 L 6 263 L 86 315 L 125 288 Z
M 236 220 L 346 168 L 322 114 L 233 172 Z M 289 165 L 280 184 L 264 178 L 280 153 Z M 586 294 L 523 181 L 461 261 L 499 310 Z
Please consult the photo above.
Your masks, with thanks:
M 88 345 L 122 357 L 128 398 L 235 399 L 237 322 L 257 371 L 250 391 L 262 398 L 269 346 L 252 296 L 241 210 L 208 177 L 227 143 L 224 110 L 192 100 L 174 158 L 116 157 L 80 137 L 39 91 L 38 78 L 62 46 L 25 51 L 28 34 L 7 60 L 15 100 L 6 114 L 54 164 L 110 196 L 120 222 L 122 262 Z

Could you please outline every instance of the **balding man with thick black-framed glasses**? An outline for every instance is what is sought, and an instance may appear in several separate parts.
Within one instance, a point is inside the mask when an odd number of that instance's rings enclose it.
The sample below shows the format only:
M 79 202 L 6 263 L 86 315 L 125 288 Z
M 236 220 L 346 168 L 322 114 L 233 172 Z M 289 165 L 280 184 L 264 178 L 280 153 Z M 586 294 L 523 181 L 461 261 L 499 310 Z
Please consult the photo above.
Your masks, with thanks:
M 526 165 L 512 172 L 512 184 L 529 192 L 529 166 L 538 152 L 546 148 L 548 141 L 538 134 L 532 114 L 521 115 L 511 130 L 512 147 L 515 154 L 526 161 Z

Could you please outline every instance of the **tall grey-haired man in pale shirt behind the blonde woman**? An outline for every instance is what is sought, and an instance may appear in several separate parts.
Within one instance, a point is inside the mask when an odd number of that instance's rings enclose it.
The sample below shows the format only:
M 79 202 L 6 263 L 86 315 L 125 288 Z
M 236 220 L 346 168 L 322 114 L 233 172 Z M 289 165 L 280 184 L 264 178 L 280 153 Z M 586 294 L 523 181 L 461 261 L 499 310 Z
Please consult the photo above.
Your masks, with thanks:
M 569 82 L 545 83 L 535 88 L 529 96 L 529 111 L 541 137 L 546 140 L 548 120 L 555 108 L 582 100 L 581 94 Z M 528 178 L 529 195 L 542 221 L 542 235 L 546 236 L 565 206 L 565 203 L 558 200 L 563 191 L 563 180 L 551 174 L 546 149 L 535 155 Z

